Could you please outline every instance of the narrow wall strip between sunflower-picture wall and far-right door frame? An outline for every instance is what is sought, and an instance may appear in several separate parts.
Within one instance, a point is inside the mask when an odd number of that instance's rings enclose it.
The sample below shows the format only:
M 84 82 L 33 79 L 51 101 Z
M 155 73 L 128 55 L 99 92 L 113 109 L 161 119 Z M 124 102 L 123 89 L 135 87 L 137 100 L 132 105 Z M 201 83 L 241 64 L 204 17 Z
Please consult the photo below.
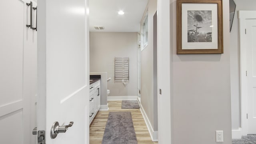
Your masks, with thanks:
M 232 129 L 241 127 L 240 119 L 240 48 L 238 10 L 256 10 L 256 0 L 234 0 L 236 13 L 230 32 L 230 77 L 231 77 L 231 106 Z

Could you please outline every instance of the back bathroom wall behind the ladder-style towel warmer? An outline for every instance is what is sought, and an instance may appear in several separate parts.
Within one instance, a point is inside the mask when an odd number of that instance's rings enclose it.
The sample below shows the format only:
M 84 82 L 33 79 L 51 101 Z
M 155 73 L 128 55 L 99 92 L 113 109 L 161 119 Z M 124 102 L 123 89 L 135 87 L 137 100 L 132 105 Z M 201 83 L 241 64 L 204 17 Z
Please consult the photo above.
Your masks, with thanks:
M 130 80 L 114 83 L 114 58 L 130 58 Z M 137 96 L 137 32 L 90 32 L 90 72 L 107 72 L 109 96 Z

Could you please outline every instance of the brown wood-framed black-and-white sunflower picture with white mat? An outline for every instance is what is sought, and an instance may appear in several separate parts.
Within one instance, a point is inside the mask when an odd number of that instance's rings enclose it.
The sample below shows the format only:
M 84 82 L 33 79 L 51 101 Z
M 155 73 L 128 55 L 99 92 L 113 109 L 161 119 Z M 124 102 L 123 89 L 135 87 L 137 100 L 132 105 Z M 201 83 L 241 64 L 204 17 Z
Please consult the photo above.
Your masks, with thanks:
M 222 0 L 177 0 L 177 54 L 223 54 Z

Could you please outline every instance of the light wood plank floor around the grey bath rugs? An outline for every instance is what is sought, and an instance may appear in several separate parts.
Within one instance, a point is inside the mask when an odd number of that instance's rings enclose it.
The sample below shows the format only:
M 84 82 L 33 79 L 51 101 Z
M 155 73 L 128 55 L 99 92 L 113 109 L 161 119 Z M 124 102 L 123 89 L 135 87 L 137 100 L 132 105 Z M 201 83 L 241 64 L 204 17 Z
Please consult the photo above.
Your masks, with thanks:
M 132 113 L 132 121 L 138 144 L 158 144 L 152 142 L 148 128 L 140 109 L 122 109 L 122 101 L 108 101 L 108 111 L 99 111 L 90 125 L 90 144 L 101 144 L 109 112 L 129 111 Z

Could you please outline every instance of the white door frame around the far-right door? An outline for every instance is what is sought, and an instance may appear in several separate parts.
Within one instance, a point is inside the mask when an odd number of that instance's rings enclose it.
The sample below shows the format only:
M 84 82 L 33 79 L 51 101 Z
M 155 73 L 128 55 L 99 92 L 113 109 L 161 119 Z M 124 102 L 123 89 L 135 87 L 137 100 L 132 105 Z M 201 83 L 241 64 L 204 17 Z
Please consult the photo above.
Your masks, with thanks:
M 247 120 L 247 79 L 246 79 L 246 20 L 248 19 L 256 19 L 256 11 L 250 10 L 240 10 L 238 11 L 238 19 L 239 19 L 239 32 L 240 32 L 240 112 L 241 112 L 241 129 L 242 136 L 246 136 L 248 134 L 248 120 Z

